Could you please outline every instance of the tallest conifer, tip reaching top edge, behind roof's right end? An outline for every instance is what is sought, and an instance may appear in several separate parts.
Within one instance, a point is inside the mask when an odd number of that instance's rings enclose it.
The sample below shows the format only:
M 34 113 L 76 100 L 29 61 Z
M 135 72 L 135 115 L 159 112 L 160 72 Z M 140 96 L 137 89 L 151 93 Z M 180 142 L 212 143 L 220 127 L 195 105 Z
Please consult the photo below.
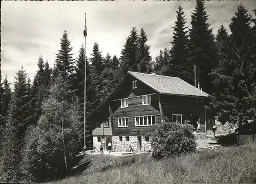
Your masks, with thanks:
M 197 0 L 196 8 L 191 15 L 191 29 L 189 30 L 189 62 L 196 64 L 196 83 L 200 83 L 206 93 L 211 94 L 213 86 L 208 74 L 216 63 L 215 38 L 210 24 L 207 22 L 208 15 L 205 11 L 204 2 Z

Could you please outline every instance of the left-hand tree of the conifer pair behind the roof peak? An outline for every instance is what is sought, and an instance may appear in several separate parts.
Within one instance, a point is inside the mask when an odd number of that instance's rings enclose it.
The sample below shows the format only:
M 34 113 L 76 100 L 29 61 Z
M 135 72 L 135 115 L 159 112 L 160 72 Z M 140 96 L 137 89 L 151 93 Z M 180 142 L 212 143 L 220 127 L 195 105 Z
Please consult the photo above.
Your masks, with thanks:
M 138 71 L 138 31 L 135 27 L 132 28 L 130 36 L 127 37 L 126 42 L 121 50 L 120 56 L 120 70 L 121 75 L 125 75 L 128 71 Z

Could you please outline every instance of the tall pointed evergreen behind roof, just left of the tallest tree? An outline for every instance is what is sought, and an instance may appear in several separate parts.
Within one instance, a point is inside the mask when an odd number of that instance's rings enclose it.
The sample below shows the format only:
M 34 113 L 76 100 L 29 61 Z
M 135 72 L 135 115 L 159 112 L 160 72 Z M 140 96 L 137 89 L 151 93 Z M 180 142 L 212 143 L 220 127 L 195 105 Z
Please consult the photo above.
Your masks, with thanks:
M 193 66 L 188 63 L 188 35 L 186 19 L 182 6 L 179 5 L 177 12 L 177 20 L 175 21 L 172 49 L 170 50 L 169 76 L 180 77 L 181 79 L 193 83 L 191 73 Z

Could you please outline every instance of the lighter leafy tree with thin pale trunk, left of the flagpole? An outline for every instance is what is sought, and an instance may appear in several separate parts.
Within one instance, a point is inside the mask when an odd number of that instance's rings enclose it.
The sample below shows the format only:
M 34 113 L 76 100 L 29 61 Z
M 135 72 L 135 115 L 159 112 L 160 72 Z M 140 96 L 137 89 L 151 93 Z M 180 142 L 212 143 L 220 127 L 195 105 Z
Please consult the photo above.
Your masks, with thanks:
M 22 160 L 23 177 L 27 181 L 45 180 L 67 172 L 81 144 L 78 101 L 67 101 L 66 85 L 61 78 L 55 80 L 50 98 L 42 105 L 37 126 L 28 131 Z

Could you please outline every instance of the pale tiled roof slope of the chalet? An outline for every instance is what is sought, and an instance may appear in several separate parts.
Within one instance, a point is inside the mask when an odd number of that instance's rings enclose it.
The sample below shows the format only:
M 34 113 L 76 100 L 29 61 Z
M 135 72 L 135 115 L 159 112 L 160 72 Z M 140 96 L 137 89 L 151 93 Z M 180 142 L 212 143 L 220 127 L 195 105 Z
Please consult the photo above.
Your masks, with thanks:
M 128 72 L 137 80 L 156 90 L 163 95 L 210 97 L 209 94 L 201 92 L 199 88 L 187 83 L 179 77 L 169 77 L 161 75 L 143 74 L 138 72 Z

